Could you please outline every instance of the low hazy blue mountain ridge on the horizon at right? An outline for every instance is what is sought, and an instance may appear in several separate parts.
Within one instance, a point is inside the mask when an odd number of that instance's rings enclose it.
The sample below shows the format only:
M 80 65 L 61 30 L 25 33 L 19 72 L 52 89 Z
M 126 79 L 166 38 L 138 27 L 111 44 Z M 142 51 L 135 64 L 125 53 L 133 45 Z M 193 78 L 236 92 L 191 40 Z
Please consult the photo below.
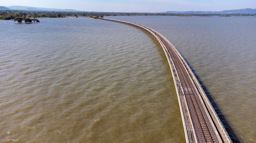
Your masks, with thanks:
M 165 13 L 184 13 L 184 14 L 256 14 L 256 9 L 235 9 L 227 11 L 167 11 Z

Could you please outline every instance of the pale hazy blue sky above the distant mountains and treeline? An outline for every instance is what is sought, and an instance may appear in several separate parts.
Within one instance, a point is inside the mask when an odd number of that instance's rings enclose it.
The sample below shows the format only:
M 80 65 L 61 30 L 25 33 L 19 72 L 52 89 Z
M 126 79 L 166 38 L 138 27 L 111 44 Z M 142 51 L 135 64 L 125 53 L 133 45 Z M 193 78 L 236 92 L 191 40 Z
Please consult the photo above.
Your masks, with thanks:
M 0 6 L 103 12 L 222 11 L 256 9 L 256 0 L 0 0 Z

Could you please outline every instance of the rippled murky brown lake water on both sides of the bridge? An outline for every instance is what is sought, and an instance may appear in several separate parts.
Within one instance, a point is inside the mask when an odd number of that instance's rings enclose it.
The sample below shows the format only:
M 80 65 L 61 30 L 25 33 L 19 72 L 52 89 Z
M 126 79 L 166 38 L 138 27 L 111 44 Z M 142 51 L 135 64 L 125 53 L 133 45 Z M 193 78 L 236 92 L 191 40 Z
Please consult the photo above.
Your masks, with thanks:
M 164 35 L 241 142 L 256 142 L 256 18 L 108 17 Z M 161 46 L 92 18 L 0 20 L 0 142 L 185 142 Z

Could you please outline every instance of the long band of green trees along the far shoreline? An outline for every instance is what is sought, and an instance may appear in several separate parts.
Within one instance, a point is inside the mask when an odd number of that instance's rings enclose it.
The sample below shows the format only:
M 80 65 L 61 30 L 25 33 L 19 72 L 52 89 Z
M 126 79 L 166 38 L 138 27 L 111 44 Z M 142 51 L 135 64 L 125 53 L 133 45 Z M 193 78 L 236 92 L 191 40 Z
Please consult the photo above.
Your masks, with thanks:
M 256 14 L 185 14 L 185 13 L 121 13 L 121 12 L 60 12 L 60 11 L 22 11 L 1 10 L 0 20 L 14 20 L 16 17 L 23 18 L 46 18 L 46 17 L 92 17 L 103 16 L 256 16 Z

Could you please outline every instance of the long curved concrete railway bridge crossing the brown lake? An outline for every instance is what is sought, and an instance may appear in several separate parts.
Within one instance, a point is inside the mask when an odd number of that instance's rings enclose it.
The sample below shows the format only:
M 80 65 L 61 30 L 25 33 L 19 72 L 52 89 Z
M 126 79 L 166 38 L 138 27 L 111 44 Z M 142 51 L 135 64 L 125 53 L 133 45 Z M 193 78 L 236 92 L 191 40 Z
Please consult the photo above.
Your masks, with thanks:
M 141 28 L 161 44 L 173 75 L 187 143 L 232 143 L 197 78 L 170 41 L 157 31 L 140 24 L 100 19 Z

